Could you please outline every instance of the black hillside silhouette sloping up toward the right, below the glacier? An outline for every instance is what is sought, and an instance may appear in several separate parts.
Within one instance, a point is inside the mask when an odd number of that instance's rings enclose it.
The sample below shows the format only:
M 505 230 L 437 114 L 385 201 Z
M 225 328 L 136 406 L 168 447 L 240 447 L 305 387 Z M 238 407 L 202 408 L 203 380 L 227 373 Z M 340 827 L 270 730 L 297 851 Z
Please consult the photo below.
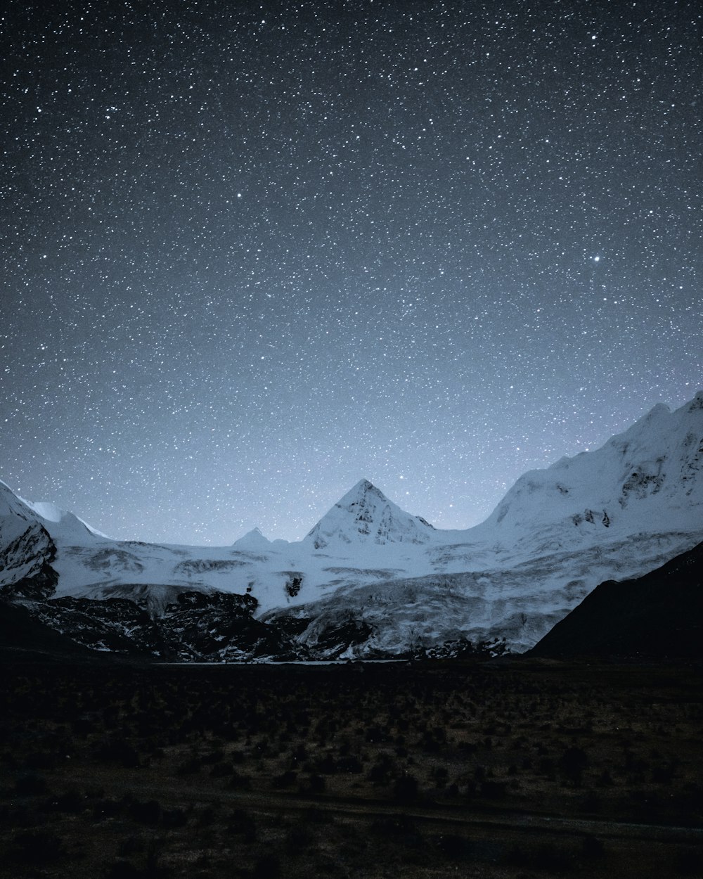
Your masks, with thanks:
M 703 658 L 703 543 L 641 578 L 597 586 L 527 655 Z

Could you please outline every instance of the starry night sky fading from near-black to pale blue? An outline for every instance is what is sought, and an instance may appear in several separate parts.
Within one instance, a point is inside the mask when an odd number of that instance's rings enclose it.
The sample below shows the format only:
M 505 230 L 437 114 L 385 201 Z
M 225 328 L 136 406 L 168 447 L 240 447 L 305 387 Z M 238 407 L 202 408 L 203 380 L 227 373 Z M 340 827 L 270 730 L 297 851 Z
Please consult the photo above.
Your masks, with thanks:
M 107 534 L 439 527 L 703 387 L 694 2 L 11 2 L 0 478 Z

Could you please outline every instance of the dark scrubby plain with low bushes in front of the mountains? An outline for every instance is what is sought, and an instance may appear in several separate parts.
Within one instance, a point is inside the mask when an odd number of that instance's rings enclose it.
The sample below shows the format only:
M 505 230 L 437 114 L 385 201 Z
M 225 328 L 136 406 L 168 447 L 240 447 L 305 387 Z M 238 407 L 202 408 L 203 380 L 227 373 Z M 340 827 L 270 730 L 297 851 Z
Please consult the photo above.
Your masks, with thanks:
M 0 875 L 703 874 L 697 664 L 0 671 Z

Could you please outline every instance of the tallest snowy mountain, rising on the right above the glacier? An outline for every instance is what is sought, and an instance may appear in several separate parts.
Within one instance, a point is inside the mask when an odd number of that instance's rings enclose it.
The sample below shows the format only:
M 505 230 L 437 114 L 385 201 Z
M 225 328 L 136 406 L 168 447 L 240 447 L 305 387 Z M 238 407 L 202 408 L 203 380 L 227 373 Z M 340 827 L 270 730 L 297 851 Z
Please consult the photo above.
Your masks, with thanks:
M 515 545 L 529 534 L 554 548 L 703 521 L 703 391 L 678 410 L 658 403 L 592 452 L 530 470 L 471 530 Z M 576 527 L 576 530 L 575 530 Z

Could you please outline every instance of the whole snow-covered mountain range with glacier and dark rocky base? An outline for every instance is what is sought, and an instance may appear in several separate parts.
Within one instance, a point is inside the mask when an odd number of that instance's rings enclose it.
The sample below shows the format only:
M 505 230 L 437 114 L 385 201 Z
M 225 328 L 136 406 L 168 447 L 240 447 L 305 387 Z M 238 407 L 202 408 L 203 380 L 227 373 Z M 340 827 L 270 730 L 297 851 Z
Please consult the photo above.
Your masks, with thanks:
M 0 484 L 0 595 L 36 602 L 63 630 L 79 612 L 99 615 L 100 631 L 114 628 L 127 605 L 111 615 L 95 601 L 131 602 L 146 616 L 133 613 L 124 632 L 149 619 L 159 634 L 142 638 L 143 649 L 167 643 L 190 658 L 246 657 L 251 643 L 352 657 L 504 637 L 525 650 L 598 583 L 639 577 L 701 538 L 703 392 L 673 412 L 656 406 L 593 452 L 526 473 L 464 531 L 432 527 L 362 479 L 299 542 L 258 529 L 223 548 L 112 541 Z M 218 598 L 226 593 L 246 600 L 230 608 Z M 202 597 L 197 607 L 192 595 Z M 186 610 L 210 626 L 207 650 L 203 639 L 193 646 L 192 620 L 178 622 Z M 242 626 L 217 640 L 235 611 L 256 623 L 242 650 L 232 642 Z M 279 635 L 267 640 L 260 626 Z

